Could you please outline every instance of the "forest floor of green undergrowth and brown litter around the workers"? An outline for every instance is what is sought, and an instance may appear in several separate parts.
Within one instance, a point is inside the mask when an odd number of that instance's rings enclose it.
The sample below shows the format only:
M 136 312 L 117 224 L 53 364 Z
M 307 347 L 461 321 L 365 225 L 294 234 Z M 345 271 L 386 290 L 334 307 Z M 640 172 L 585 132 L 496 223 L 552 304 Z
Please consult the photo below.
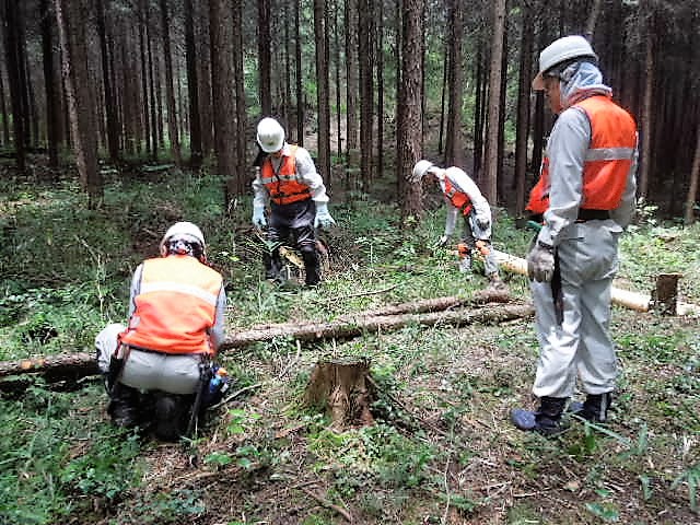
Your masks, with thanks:
M 4 180 L 3 361 L 92 351 L 105 323 L 124 322 L 135 265 L 178 219 L 208 236 L 231 334 L 468 300 L 486 285 L 431 247 L 442 207 L 401 229 L 383 199 L 335 201 L 330 268 L 310 290 L 261 279 L 249 203 L 222 218 L 223 185 L 206 174 L 109 180 L 103 211 L 85 210 L 70 182 Z M 498 221 L 495 247 L 524 256 L 532 233 L 504 212 Z M 618 285 L 648 292 L 653 276 L 679 271 L 682 299 L 700 304 L 699 241 L 698 226 L 643 214 L 621 243 Z M 526 279 L 505 278 L 511 304 L 527 304 Z M 235 378 L 230 397 L 176 444 L 114 429 L 97 378 L 62 388 L 37 378 L 0 397 L 0 523 L 700 524 L 698 319 L 616 306 L 611 332 L 620 376 L 609 423 L 571 421 L 551 439 L 509 420 L 512 408 L 535 406 L 529 317 L 232 349 L 220 357 Z M 304 402 L 314 365 L 340 358 L 371 363 L 374 424 L 338 428 Z

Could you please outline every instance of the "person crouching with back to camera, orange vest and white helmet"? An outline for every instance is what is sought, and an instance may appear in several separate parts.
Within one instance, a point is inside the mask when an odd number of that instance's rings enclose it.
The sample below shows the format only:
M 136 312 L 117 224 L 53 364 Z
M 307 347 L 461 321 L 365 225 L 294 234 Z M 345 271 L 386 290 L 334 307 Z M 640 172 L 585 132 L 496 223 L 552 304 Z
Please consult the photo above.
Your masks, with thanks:
M 152 427 L 156 438 L 174 441 L 192 419 L 206 365 L 224 339 L 223 279 L 206 264 L 206 247 L 196 224 L 173 224 L 161 257 L 133 273 L 128 326 L 110 324 L 95 339 L 118 425 Z

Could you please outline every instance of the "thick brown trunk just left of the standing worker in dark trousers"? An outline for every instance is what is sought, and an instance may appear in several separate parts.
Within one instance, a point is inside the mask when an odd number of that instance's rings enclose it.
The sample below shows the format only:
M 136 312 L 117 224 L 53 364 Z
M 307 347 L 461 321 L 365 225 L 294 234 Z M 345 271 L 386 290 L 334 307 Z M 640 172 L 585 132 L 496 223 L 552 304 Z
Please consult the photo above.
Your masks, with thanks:
M 225 205 L 237 195 L 235 118 L 233 97 L 233 13 L 229 0 L 209 2 L 209 38 L 211 39 L 211 86 L 214 112 L 214 152 L 217 172 L 226 177 Z

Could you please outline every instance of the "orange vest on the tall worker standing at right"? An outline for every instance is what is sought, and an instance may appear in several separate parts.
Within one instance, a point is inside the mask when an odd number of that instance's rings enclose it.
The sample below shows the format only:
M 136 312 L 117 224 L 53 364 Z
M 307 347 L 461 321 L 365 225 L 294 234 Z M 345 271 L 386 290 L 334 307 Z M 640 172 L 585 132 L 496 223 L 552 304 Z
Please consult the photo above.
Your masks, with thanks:
M 596 95 L 574 104 L 591 122 L 591 144 L 583 164 L 584 210 L 614 210 L 620 205 L 637 149 L 632 116 L 609 97 Z M 549 159 L 542 160 L 539 180 L 526 209 L 544 213 L 549 208 Z

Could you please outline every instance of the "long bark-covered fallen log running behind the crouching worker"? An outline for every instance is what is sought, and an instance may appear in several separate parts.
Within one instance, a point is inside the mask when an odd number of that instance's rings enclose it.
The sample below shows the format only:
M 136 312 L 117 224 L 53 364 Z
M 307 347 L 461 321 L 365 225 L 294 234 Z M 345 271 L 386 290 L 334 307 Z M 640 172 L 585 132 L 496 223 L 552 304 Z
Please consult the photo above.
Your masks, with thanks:
M 445 304 L 453 304 L 452 301 Z M 424 326 L 469 324 L 497 324 L 506 320 L 529 317 L 534 314 L 529 304 L 489 305 L 488 307 L 468 310 L 459 308 L 442 312 L 404 315 L 371 315 L 362 313 L 348 315 L 328 323 L 284 323 L 265 327 L 241 330 L 229 336 L 221 345 L 220 351 L 243 348 L 254 342 L 271 341 L 277 337 L 291 337 L 302 341 L 325 338 L 351 338 L 362 334 L 374 334 L 401 328 L 410 324 Z M 46 358 L 25 359 L 21 361 L 0 362 L 0 378 L 20 374 L 42 374 L 47 381 L 77 380 L 100 373 L 95 355 L 88 352 L 57 354 Z M 0 389 L 1 383 L 0 383 Z

